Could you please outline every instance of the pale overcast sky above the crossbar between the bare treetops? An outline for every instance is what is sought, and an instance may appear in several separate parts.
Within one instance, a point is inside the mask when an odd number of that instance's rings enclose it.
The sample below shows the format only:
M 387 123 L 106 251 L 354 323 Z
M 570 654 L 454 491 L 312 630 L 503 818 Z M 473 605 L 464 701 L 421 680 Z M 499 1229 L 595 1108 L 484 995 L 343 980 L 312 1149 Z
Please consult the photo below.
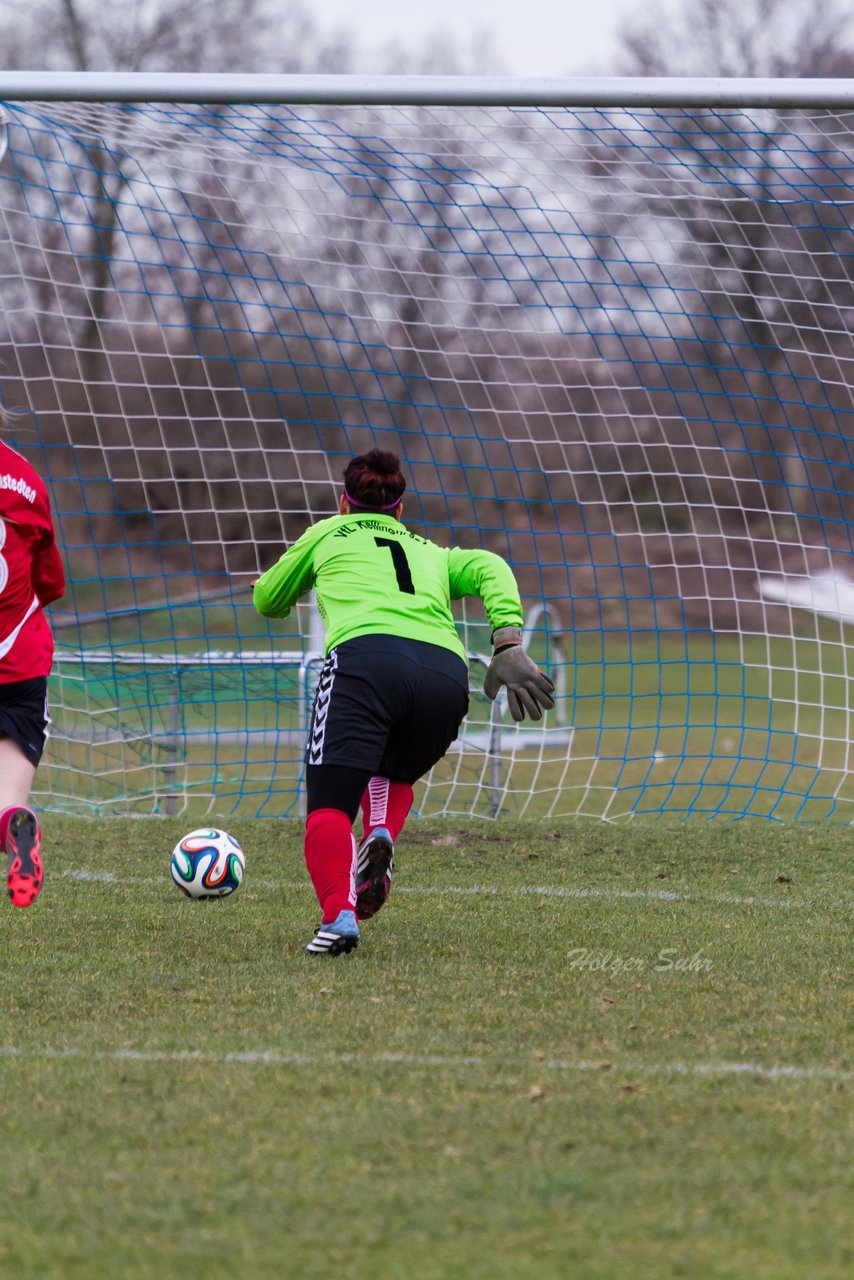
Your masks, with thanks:
M 483 33 L 489 33 L 501 69 L 511 76 L 602 74 L 613 69 L 616 31 L 638 12 L 638 0 L 311 0 L 321 29 L 346 28 L 357 50 L 356 70 L 375 72 L 374 56 L 397 44 L 416 51 L 435 32 L 447 32 L 476 68 Z

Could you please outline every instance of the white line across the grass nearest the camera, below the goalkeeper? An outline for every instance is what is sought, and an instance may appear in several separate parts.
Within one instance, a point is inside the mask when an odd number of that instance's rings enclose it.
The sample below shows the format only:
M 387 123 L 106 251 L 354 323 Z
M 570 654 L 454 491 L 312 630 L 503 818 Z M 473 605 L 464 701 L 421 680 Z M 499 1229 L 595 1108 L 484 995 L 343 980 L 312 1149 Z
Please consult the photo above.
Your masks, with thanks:
M 475 1055 L 443 1053 L 284 1053 L 278 1050 L 247 1050 L 230 1053 L 213 1053 L 204 1050 L 88 1050 L 74 1048 L 20 1048 L 0 1044 L 0 1059 L 26 1059 L 42 1061 L 77 1060 L 82 1062 L 197 1062 L 200 1066 L 411 1066 L 511 1069 L 534 1071 L 616 1071 L 620 1075 L 686 1075 L 686 1076 L 744 1076 L 759 1080 L 830 1080 L 848 1083 L 854 1071 L 835 1066 L 789 1066 L 777 1064 L 762 1066 L 759 1062 L 611 1062 L 593 1059 L 525 1059 L 478 1057 Z

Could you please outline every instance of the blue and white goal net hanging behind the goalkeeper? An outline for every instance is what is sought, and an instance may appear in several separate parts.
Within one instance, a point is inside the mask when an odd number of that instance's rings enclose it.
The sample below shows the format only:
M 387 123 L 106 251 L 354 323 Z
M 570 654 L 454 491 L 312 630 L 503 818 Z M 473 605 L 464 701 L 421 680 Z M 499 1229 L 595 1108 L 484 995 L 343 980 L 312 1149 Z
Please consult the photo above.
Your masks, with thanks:
M 0 388 L 69 573 L 38 803 L 296 814 L 323 636 L 251 582 L 399 453 L 558 700 L 421 813 L 854 819 L 845 110 L 6 105 Z

